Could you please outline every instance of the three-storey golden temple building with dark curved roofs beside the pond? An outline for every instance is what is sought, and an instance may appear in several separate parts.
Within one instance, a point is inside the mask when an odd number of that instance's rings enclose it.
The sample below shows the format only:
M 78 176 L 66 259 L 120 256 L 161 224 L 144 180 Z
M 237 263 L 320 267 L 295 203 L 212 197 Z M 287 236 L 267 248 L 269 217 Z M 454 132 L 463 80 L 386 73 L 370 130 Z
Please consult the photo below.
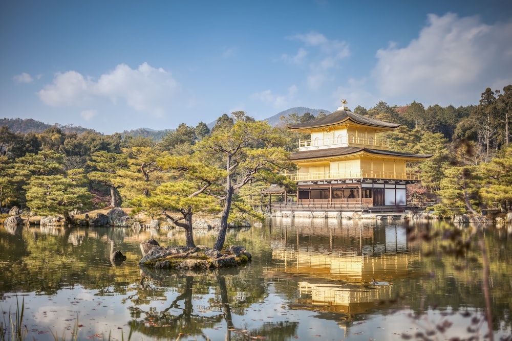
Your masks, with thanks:
M 327 116 L 288 126 L 310 135 L 290 156 L 297 171 L 286 174 L 296 181 L 297 204 L 327 209 L 406 206 L 407 185 L 419 181 L 406 164 L 432 155 L 389 150 L 379 135 L 400 124 L 357 115 L 342 103 Z

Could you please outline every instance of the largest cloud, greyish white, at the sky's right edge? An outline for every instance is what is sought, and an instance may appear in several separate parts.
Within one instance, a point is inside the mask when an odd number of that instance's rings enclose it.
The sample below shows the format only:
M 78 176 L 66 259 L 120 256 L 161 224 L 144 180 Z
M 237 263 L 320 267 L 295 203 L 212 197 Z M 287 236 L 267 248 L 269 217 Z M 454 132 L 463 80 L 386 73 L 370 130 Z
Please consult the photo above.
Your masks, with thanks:
M 479 95 L 498 79 L 501 87 L 512 81 L 511 36 L 512 22 L 486 25 L 476 16 L 430 14 L 428 25 L 407 47 L 390 44 L 377 51 L 372 76 L 386 98 L 474 103 L 475 92 Z

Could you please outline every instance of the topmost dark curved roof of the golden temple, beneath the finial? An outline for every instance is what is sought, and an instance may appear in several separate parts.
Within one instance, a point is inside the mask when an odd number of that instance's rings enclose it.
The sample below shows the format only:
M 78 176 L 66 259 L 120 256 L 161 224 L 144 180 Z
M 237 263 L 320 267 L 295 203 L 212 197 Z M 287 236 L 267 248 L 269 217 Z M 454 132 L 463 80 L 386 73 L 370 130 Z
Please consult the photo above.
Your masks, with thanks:
M 401 124 L 398 123 L 389 123 L 379 120 L 370 119 L 365 116 L 357 115 L 349 110 L 336 110 L 333 113 L 330 113 L 327 116 L 314 119 L 304 123 L 298 123 L 295 125 L 289 125 L 289 129 L 293 130 L 302 130 L 302 129 L 311 129 L 311 128 L 322 128 L 326 126 L 333 126 L 339 123 L 343 123 L 347 120 L 352 120 L 356 123 L 369 125 L 374 127 L 382 127 L 382 128 L 397 128 Z

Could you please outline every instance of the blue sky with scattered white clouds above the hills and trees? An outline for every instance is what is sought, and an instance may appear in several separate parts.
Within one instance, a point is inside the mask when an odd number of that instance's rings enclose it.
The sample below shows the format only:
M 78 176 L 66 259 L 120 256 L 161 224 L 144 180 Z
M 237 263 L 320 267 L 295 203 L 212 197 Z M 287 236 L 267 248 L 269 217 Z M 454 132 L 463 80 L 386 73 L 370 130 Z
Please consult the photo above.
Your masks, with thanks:
M 110 134 L 508 84 L 509 0 L 0 2 L 4 118 Z

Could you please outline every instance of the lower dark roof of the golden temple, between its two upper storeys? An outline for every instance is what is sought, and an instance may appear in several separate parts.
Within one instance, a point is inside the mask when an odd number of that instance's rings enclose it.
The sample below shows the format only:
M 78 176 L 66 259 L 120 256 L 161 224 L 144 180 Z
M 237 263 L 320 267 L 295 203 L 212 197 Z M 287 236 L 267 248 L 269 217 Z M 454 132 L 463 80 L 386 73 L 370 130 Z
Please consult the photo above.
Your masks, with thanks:
M 429 158 L 432 156 L 431 154 L 410 154 L 410 153 L 403 153 L 403 152 L 399 152 L 399 151 L 370 149 L 370 148 L 361 148 L 361 147 L 338 147 L 338 148 L 296 151 L 290 155 L 290 160 L 306 160 L 308 158 L 342 156 L 342 155 L 355 154 L 355 153 L 362 152 L 362 151 L 370 153 L 370 154 L 375 154 L 375 155 L 400 156 L 400 157 L 409 157 L 409 158 L 418 158 L 418 159 Z

